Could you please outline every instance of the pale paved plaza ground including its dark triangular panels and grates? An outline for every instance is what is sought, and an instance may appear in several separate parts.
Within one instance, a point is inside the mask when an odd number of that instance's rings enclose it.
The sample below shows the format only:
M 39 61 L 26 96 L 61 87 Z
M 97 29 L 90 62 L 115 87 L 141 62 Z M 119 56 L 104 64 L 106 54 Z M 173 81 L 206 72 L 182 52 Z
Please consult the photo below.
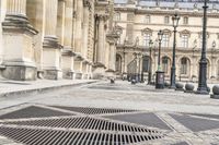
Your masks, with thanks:
M 101 138 L 112 144 L 219 144 L 219 100 L 210 99 L 209 95 L 155 90 L 146 84 L 100 82 L 39 95 L 0 98 L 0 145 L 31 144 L 33 138 L 26 138 L 23 130 L 36 134 L 71 131 L 78 133 L 79 137 L 73 136 L 79 144 L 104 144 Z M 112 134 L 115 137 L 107 138 Z M 37 145 L 43 144 L 41 141 Z M 61 140 L 59 143 L 64 144 Z

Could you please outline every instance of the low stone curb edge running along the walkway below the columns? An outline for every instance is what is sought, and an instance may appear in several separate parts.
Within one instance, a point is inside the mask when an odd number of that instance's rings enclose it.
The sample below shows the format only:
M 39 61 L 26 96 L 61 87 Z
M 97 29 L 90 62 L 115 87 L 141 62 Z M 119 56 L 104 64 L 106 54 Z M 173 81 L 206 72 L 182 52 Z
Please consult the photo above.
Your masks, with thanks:
M 76 84 L 66 84 L 66 85 L 59 85 L 59 86 L 49 86 L 49 87 L 24 89 L 24 90 L 14 90 L 14 92 L 9 92 L 9 93 L 2 93 L 2 94 L 0 94 L 0 97 L 41 94 L 41 93 L 46 93 L 46 92 L 50 92 L 50 90 L 54 90 L 54 89 L 68 88 L 68 87 L 73 87 L 73 86 L 81 86 L 81 85 L 85 85 L 85 84 L 93 84 L 93 83 L 96 83 L 96 82 L 99 82 L 99 81 L 81 82 L 81 83 L 76 83 Z

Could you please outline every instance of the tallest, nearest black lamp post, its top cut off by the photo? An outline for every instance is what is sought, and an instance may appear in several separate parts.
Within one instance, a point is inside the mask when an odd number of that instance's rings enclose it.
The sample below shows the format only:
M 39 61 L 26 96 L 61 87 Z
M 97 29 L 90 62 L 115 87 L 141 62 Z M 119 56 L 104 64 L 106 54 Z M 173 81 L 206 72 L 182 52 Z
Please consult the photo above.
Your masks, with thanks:
M 204 2 L 204 17 L 203 17 L 203 48 L 201 48 L 201 58 L 199 61 L 199 76 L 198 76 L 198 88 L 196 94 L 208 95 L 207 87 L 207 59 L 206 59 L 206 29 L 207 29 L 207 0 Z

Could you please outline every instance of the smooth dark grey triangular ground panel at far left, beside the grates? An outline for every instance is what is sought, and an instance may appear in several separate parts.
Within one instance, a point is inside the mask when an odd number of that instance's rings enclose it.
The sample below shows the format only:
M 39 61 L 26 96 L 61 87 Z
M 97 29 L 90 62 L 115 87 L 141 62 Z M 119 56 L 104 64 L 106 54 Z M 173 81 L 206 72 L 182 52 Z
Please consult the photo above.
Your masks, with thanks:
M 0 116 L 0 119 L 23 119 L 23 118 L 43 118 L 43 117 L 59 117 L 59 116 L 73 116 L 73 114 L 31 106 L 21 110 L 16 110 L 16 111 Z

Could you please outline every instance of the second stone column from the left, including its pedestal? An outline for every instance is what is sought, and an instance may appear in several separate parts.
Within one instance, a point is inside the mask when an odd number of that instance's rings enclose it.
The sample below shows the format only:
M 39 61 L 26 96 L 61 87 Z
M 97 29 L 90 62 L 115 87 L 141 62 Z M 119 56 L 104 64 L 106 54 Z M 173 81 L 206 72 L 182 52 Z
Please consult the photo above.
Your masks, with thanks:
M 56 36 L 58 0 L 46 0 L 46 20 L 44 36 L 44 77 L 61 78 L 61 46 Z

